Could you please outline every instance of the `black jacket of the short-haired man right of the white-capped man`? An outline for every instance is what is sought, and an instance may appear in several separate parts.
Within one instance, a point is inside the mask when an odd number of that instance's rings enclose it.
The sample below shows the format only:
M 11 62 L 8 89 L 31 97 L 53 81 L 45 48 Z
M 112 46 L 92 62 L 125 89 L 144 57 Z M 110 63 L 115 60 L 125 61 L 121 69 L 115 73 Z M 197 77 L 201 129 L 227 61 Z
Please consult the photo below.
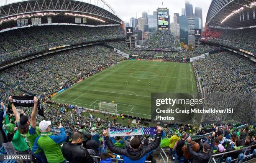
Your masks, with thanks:
M 82 143 L 64 143 L 62 154 L 69 163 L 93 163 L 92 157 Z

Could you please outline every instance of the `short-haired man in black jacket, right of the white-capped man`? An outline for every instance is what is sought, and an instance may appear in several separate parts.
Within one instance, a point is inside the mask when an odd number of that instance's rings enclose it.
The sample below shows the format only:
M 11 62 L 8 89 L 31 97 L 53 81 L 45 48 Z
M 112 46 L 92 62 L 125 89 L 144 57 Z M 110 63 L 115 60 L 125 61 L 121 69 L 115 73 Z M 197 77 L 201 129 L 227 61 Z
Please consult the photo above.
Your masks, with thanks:
M 84 133 L 76 131 L 72 136 L 72 142 L 62 146 L 62 154 L 69 163 L 93 163 L 89 152 L 82 146 L 83 137 Z

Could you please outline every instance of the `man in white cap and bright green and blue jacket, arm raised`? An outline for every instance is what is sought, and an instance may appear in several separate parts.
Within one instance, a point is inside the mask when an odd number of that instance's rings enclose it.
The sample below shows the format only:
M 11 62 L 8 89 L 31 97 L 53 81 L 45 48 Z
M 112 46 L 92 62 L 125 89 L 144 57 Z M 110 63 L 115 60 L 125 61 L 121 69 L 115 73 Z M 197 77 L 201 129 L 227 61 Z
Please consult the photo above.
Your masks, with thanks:
M 36 138 L 32 152 L 37 153 L 41 150 L 44 151 L 48 163 L 67 163 L 61 153 L 61 147 L 59 145 L 64 143 L 67 139 L 64 128 L 59 124 L 61 132 L 59 135 L 54 135 L 50 132 L 50 125 L 51 121 L 43 120 L 39 123 L 41 136 Z

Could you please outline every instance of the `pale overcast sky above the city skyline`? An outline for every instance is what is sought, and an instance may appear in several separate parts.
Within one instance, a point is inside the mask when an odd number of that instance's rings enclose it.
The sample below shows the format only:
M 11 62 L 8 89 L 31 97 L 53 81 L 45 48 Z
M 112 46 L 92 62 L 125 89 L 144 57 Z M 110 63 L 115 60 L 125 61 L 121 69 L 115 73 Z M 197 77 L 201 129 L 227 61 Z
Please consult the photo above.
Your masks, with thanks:
M 0 5 L 4 5 L 6 0 L 0 0 Z M 8 0 L 8 2 L 15 2 L 21 0 Z M 156 8 L 164 7 L 169 8 L 171 22 L 173 22 L 173 14 L 181 14 L 182 7 L 185 8 L 185 0 L 105 0 L 114 10 L 118 13 L 122 20 L 130 22 L 131 17 L 137 18 L 142 16 L 142 12 L 146 11 L 149 15 L 156 11 Z M 193 5 L 193 12 L 195 7 L 202 7 L 203 25 L 205 24 L 208 8 L 212 0 L 189 0 Z

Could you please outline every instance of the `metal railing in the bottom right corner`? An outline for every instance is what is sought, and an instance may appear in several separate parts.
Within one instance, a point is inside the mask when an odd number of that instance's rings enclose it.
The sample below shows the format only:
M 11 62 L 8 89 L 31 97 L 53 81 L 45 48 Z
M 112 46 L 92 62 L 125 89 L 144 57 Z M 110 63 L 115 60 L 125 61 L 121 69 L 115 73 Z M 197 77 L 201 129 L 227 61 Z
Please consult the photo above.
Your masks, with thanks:
M 219 153 L 219 154 L 215 154 L 215 155 L 212 155 L 210 157 L 210 160 L 208 161 L 208 163 L 218 163 L 218 162 L 221 162 L 221 163 L 231 163 L 231 162 L 234 162 L 234 161 L 237 161 L 237 163 L 241 163 L 244 161 L 245 158 L 248 158 L 248 157 L 251 157 L 251 156 L 256 156 L 256 149 L 254 149 L 253 153 L 249 154 L 249 155 L 246 155 L 246 152 L 248 150 L 251 150 L 251 147 L 253 146 L 256 146 L 256 144 L 252 145 L 252 146 L 248 146 L 248 147 L 245 147 L 245 148 L 241 148 L 241 149 L 238 149 L 238 150 L 235 150 L 235 151 L 229 151 L 229 152 L 225 152 L 225 153 Z M 238 158 L 236 159 L 233 159 L 231 157 L 228 157 L 225 159 L 225 162 L 222 162 L 222 161 L 216 161 L 215 157 L 218 156 L 218 158 L 222 158 L 224 160 L 224 155 L 225 154 L 228 154 L 228 153 L 233 153 L 233 152 L 237 152 L 237 151 L 241 151 L 241 150 L 245 150 L 243 153 L 240 153 L 238 155 Z M 256 158 L 252 158 L 250 161 L 256 161 Z

